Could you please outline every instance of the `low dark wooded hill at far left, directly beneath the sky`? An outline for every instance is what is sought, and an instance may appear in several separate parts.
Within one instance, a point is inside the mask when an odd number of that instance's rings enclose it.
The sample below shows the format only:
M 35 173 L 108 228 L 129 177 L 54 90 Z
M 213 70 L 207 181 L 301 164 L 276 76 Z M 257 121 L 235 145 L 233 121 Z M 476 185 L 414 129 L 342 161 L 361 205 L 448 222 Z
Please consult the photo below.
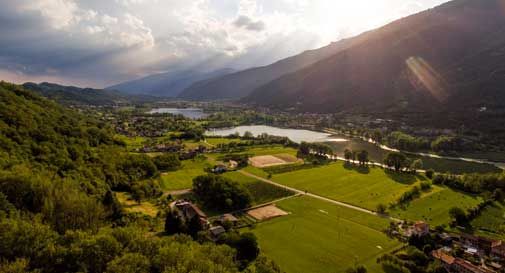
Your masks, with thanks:
M 143 103 L 156 100 L 154 97 L 125 95 L 118 91 L 63 86 L 54 83 L 25 83 L 23 87 L 41 96 L 64 105 L 118 105 Z

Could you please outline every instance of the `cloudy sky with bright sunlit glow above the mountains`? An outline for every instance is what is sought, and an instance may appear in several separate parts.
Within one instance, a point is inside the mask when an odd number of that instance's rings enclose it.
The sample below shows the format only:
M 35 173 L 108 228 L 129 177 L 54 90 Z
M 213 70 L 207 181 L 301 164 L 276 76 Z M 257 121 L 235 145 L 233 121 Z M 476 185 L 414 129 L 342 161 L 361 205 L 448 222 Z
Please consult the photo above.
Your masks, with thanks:
M 0 80 L 102 88 L 244 69 L 447 0 L 0 0 Z

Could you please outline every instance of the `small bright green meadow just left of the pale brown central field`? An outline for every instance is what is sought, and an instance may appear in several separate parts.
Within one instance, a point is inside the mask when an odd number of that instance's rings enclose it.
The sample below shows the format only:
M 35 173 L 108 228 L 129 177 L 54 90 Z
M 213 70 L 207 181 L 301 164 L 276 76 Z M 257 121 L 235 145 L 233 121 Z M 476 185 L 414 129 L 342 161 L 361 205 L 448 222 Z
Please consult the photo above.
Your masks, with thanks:
M 161 175 L 161 187 L 167 191 L 189 189 L 193 185 L 193 178 L 206 174 L 204 169 L 208 164 L 203 159 L 182 161 L 180 170 Z

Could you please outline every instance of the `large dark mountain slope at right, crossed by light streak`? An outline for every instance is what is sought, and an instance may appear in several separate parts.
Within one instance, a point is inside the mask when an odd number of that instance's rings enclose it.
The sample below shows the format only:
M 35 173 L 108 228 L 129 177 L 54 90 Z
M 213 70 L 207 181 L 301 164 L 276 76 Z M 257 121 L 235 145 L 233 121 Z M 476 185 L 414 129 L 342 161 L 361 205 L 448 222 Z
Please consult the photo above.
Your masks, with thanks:
M 503 0 L 448 2 L 359 37 L 242 101 L 309 112 L 505 106 Z

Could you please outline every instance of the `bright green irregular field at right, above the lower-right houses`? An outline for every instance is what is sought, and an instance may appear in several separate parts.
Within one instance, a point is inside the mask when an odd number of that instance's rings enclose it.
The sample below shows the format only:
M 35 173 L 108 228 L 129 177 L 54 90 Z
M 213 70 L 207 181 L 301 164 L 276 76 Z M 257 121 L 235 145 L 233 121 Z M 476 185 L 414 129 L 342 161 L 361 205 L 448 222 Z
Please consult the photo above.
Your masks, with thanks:
M 405 210 L 396 208 L 391 215 L 400 219 L 424 220 L 432 226 L 449 224 L 449 210 L 460 207 L 464 210 L 473 208 L 482 202 L 482 198 L 456 192 L 449 188 L 433 187 L 433 191 L 420 199 L 412 201 Z

